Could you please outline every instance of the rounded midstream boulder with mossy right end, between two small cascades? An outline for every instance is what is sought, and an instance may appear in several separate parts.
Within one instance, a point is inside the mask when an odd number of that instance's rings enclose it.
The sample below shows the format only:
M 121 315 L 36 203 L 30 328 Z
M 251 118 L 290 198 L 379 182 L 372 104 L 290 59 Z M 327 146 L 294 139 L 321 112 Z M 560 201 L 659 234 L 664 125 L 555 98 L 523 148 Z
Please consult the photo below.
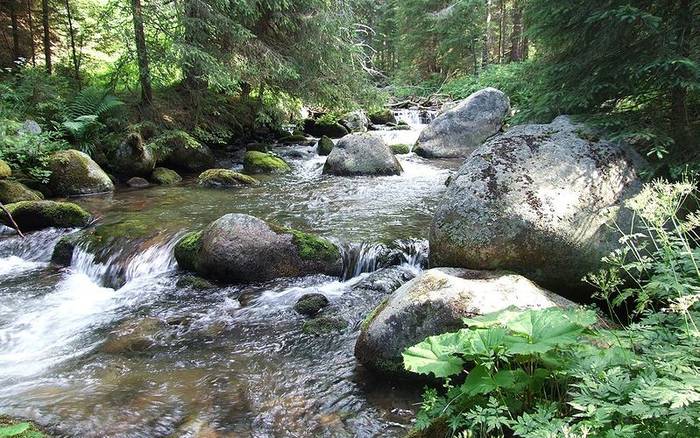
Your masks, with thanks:
M 201 233 L 186 235 L 175 248 L 175 258 L 185 269 L 229 283 L 339 276 L 343 268 L 332 242 L 244 214 L 227 214 Z

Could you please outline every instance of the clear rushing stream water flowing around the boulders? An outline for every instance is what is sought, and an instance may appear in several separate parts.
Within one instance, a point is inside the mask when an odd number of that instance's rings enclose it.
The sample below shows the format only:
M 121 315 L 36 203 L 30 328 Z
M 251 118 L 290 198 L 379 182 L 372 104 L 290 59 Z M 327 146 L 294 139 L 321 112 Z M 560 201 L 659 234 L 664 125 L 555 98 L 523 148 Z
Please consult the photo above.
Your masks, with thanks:
M 417 137 L 414 128 L 377 135 Z M 352 354 L 362 319 L 385 297 L 357 286 L 387 258 L 421 269 L 431 213 L 459 162 L 409 154 L 401 176 L 340 178 L 321 175 L 311 147 L 276 152 L 294 172 L 259 187 L 185 182 L 77 200 L 98 220 L 69 267 L 51 253 L 79 231 L 0 234 L 0 413 L 81 437 L 405 434 L 417 390 L 373 378 Z M 179 287 L 178 237 L 231 212 L 335 240 L 343 278 Z M 349 327 L 304 334 L 292 306 L 309 292 L 326 295 Z M 162 326 L 150 348 L 106 347 L 119 327 L 153 320 Z

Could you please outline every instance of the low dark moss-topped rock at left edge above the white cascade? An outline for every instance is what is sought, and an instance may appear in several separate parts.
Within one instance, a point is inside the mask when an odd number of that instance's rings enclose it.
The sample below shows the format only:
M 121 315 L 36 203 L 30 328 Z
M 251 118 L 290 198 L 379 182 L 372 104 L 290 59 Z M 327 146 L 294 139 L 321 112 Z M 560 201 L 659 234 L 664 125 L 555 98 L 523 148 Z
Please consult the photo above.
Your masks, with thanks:
M 91 219 L 90 213 L 70 202 L 22 201 L 5 207 L 22 231 L 84 227 Z M 0 222 L 10 226 L 4 213 L 0 215 Z

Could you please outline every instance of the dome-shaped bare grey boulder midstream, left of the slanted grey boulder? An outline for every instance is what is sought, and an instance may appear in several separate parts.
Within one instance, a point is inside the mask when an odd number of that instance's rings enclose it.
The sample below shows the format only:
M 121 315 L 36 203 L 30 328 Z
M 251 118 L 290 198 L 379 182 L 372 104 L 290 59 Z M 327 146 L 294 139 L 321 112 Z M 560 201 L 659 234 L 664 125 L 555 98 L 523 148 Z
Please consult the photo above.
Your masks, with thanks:
M 352 134 L 335 145 L 323 173 L 340 176 L 400 175 L 401 164 L 386 142 L 371 134 Z

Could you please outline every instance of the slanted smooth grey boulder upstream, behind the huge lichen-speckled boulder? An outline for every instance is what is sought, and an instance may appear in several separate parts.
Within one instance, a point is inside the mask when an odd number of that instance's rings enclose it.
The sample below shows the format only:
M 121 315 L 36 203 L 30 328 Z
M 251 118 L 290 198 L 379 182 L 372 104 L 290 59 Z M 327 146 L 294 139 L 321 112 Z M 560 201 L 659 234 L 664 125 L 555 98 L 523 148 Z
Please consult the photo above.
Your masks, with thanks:
M 477 91 L 433 120 L 414 152 L 427 158 L 467 157 L 498 133 L 510 111 L 508 97 L 495 88 Z

